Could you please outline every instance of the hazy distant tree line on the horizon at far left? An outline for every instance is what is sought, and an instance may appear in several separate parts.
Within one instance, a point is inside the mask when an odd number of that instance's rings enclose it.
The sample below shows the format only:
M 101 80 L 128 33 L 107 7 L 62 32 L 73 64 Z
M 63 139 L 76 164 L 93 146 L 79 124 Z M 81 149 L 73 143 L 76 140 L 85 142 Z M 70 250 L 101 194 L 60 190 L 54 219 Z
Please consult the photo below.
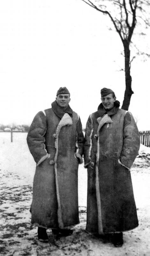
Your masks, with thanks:
M 30 126 L 26 124 L 15 125 L 15 124 L 0 124 L 0 132 L 10 132 L 11 129 L 13 132 L 28 132 Z

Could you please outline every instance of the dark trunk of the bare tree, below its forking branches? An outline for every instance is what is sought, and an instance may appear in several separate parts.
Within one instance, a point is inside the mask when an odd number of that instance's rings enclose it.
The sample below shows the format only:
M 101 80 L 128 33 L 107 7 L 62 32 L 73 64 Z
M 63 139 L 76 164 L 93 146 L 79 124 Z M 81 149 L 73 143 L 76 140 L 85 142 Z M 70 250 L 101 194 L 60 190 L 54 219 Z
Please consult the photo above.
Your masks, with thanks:
M 124 40 L 124 59 L 125 59 L 125 92 L 122 109 L 128 110 L 131 96 L 134 93 L 131 89 L 132 77 L 130 75 L 130 49 L 127 40 Z

